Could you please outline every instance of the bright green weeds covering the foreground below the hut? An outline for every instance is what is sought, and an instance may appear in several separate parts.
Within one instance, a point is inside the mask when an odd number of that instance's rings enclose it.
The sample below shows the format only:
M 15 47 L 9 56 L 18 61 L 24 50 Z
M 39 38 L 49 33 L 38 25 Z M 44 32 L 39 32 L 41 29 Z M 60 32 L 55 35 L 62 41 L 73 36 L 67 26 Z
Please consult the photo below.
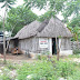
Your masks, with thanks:
M 73 79 L 77 71 L 74 69 L 76 66 L 69 61 L 56 61 L 54 59 L 51 59 L 51 61 L 41 60 L 34 63 L 24 63 L 18 70 L 17 79 L 40 80 L 44 78 L 47 80 L 59 80 L 59 78 L 68 79 L 69 77 Z

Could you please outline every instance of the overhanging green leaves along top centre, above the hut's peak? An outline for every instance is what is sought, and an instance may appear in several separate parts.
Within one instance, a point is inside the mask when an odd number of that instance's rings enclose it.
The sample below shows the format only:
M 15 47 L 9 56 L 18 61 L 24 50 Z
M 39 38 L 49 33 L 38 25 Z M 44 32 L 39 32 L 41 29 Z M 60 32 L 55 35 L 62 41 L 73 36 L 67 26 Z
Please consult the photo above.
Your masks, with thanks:
M 49 9 L 54 14 L 62 10 L 63 3 L 67 0 L 24 0 L 24 6 L 28 8 Z

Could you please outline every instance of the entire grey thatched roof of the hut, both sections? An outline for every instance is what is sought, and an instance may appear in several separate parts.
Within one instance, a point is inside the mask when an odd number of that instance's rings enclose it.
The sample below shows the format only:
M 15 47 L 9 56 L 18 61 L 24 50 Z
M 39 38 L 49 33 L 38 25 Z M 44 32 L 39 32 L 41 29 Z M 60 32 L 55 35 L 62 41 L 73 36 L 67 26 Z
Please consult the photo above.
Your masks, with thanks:
M 23 39 L 30 37 L 72 37 L 69 29 L 58 18 L 51 18 L 44 20 L 42 23 L 33 21 L 30 24 L 23 27 L 14 38 Z

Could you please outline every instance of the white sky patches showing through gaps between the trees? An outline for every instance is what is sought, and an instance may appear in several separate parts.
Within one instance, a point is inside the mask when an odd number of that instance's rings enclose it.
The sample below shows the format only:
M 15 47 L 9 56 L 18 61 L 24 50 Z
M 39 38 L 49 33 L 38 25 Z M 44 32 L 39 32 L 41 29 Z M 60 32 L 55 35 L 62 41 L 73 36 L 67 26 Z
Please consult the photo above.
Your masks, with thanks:
M 16 2 L 16 4 L 13 6 L 14 8 L 16 7 L 18 7 L 18 6 L 20 6 L 20 4 L 22 4 L 23 3 L 23 0 L 17 0 L 17 2 Z M 0 7 L 2 6 L 3 3 L 0 3 Z M 38 16 L 41 16 L 41 14 L 43 14 L 44 12 L 47 12 L 46 10 L 39 10 L 39 9 L 37 9 L 37 8 L 33 8 L 33 9 L 31 9 L 36 14 L 38 14 Z M 4 14 L 4 8 L 3 9 L 0 9 L 0 16 L 1 17 L 3 17 L 3 14 Z M 62 20 L 63 19 L 63 17 L 61 16 L 61 12 L 57 16 L 60 20 Z

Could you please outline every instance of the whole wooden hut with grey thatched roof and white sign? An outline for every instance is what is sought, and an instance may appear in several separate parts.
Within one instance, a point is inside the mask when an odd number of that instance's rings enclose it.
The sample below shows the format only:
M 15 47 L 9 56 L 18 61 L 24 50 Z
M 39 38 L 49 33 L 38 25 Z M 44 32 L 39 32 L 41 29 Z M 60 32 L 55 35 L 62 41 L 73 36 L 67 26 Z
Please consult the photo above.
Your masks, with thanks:
M 23 51 L 42 53 L 49 51 L 50 54 L 57 53 L 57 47 L 60 49 L 60 56 L 72 54 L 69 29 L 58 18 L 51 18 L 43 22 L 33 21 L 23 27 L 11 40 L 10 48 L 19 47 Z M 57 42 L 56 42 L 57 41 Z

